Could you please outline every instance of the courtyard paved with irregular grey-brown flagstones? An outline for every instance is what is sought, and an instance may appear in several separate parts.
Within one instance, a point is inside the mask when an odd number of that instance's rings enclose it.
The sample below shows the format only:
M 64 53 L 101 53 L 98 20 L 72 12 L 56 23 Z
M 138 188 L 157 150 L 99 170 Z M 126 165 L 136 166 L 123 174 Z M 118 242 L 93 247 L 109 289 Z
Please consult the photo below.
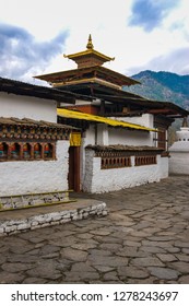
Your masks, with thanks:
M 0 283 L 189 284 L 189 177 L 102 195 L 108 215 L 0 237 Z

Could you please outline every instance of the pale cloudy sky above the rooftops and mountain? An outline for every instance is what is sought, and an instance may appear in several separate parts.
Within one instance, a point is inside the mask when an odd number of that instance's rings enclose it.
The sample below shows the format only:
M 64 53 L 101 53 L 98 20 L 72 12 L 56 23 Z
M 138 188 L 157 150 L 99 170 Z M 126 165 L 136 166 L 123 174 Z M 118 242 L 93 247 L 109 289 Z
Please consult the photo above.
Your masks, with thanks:
M 0 0 L 0 76 L 75 69 L 64 58 L 94 49 L 128 76 L 143 70 L 189 74 L 188 0 Z M 44 85 L 46 85 L 43 82 Z

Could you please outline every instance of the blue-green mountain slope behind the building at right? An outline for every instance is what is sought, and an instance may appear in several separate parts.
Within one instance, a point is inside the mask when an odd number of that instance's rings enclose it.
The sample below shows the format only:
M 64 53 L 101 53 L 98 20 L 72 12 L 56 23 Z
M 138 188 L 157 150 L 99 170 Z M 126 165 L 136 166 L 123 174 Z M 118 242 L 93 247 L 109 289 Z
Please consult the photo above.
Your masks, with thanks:
M 151 99 L 173 102 L 189 109 L 189 75 L 146 70 L 131 78 L 141 84 L 125 86 L 126 91 Z

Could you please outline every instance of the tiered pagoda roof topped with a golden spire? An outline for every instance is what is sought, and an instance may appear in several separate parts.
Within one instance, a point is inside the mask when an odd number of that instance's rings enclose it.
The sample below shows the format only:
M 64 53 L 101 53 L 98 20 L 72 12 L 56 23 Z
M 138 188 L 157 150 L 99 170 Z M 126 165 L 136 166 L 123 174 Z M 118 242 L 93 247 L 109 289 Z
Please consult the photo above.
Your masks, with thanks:
M 123 85 L 130 86 L 140 83 L 103 67 L 104 62 L 114 60 L 114 58 L 96 51 L 93 47 L 91 35 L 86 50 L 68 56 L 64 55 L 64 57 L 73 60 L 78 64 L 78 69 L 37 75 L 35 78 L 49 82 L 54 87 L 67 87 L 67 90 L 71 91 L 74 87 L 74 92 L 80 91 L 81 87 L 86 89 L 91 84 L 103 84 L 108 87 L 121 89 Z

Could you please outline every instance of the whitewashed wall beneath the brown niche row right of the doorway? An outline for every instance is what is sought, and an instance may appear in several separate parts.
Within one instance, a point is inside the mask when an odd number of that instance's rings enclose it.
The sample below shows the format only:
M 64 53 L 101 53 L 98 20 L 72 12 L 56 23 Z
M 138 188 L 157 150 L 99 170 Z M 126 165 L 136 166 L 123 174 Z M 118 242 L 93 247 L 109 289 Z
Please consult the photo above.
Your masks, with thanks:
M 155 165 L 134 166 L 134 156 L 132 156 L 131 167 L 101 169 L 101 157 L 94 157 L 94 151 L 86 150 L 87 172 L 85 172 L 83 190 L 87 192 L 107 192 L 160 181 L 163 175 L 160 155 Z

